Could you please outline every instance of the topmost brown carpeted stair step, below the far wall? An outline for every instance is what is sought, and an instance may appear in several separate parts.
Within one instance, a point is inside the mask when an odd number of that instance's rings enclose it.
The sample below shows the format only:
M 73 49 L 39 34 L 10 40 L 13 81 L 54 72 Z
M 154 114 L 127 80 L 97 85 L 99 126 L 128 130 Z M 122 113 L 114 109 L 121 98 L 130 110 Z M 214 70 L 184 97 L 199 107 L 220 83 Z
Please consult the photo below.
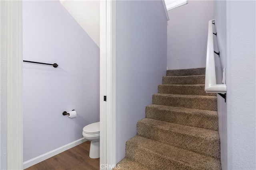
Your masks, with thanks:
M 166 71 L 166 76 L 192 76 L 192 75 L 203 75 L 203 74 L 205 74 L 205 67 Z

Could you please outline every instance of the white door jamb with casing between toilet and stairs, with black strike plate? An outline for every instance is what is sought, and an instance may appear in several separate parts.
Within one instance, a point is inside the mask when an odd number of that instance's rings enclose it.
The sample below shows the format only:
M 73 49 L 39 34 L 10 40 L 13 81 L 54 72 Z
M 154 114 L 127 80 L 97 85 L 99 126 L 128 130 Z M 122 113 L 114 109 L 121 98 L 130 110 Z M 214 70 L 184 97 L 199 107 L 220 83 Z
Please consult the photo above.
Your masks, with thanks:
M 116 164 L 116 2 L 100 1 L 100 169 Z M 103 101 L 107 96 L 107 102 Z

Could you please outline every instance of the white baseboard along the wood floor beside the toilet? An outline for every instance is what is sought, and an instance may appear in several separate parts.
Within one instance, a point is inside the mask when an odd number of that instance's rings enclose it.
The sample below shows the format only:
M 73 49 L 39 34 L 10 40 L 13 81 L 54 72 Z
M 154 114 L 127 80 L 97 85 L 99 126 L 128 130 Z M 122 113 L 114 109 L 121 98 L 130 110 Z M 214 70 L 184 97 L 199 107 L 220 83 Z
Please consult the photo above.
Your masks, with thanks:
M 84 143 L 85 141 L 87 141 L 84 138 L 78 139 L 74 142 L 68 143 L 67 145 L 64 145 L 62 147 L 59 147 L 57 149 L 51 150 L 50 152 L 47 152 L 45 154 L 42 154 L 40 156 L 36 156 L 35 158 L 32 158 L 30 160 L 27 160 L 26 162 L 23 162 L 23 169 L 26 169 L 30 166 L 33 166 L 34 164 L 38 164 L 39 162 L 42 162 L 43 160 L 46 160 L 52 156 L 55 156 L 56 154 L 59 154 L 61 152 L 64 152 L 65 150 L 68 150 L 72 147 L 75 147 L 81 143 Z

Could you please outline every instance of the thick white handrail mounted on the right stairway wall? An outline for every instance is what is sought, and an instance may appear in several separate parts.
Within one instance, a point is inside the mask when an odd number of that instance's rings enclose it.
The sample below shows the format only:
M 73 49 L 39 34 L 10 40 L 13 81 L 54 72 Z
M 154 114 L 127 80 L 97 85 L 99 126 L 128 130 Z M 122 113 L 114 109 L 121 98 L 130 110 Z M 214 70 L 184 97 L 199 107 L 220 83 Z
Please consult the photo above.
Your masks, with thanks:
M 226 93 L 226 84 L 216 84 L 215 61 L 214 61 L 214 45 L 212 22 L 208 23 L 208 40 L 206 52 L 206 68 L 205 68 L 205 86 L 206 93 Z

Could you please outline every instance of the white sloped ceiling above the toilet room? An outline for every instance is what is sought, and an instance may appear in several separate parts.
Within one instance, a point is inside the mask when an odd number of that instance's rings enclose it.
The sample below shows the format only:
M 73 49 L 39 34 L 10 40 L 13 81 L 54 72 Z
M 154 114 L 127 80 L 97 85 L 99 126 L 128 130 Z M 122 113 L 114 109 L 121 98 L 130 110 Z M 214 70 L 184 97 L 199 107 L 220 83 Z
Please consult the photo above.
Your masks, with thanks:
M 60 0 L 60 3 L 100 47 L 100 1 Z

